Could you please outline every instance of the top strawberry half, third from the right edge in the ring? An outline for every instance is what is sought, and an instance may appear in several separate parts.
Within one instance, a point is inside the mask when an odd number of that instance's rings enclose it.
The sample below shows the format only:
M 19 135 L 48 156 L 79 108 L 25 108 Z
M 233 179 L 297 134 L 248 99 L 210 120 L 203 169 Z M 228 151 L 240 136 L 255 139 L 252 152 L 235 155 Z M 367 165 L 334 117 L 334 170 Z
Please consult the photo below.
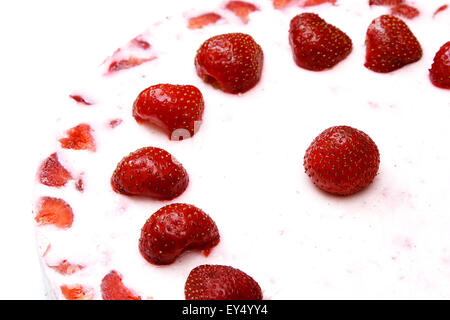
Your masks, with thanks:
M 332 68 L 352 51 L 352 40 L 315 13 L 302 13 L 291 20 L 289 43 L 295 63 L 313 71 Z

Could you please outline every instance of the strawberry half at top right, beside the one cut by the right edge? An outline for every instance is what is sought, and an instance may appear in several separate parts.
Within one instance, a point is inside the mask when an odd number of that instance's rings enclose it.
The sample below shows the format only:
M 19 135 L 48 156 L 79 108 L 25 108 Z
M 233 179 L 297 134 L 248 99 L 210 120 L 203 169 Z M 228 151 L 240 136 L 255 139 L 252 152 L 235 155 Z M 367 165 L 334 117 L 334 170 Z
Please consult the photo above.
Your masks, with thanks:
M 400 18 L 382 15 L 367 29 L 366 68 L 375 72 L 391 72 L 421 57 L 420 43 Z

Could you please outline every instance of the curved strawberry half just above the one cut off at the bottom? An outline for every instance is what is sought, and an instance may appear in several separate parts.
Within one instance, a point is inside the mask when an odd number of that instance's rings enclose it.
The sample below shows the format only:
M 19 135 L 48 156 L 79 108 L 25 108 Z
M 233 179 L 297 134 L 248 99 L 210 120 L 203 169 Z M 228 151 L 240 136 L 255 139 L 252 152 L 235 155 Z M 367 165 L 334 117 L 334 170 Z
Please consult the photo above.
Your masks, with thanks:
M 162 207 L 146 221 L 139 250 L 153 264 L 171 264 L 186 250 L 210 249 L 219 241 L 219 230 L 206 213 L 192 205 L 175 203 Z

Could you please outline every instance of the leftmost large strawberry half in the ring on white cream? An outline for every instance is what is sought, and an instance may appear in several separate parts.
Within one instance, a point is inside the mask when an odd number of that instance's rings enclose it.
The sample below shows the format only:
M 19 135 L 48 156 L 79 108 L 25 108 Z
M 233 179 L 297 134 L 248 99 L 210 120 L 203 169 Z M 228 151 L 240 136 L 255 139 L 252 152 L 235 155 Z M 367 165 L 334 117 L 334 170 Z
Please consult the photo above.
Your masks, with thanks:
M 123 158 L 111 177 L 115 192 L 171 200 L 186 190 L 189 177 L 170 153 L 146 147 Z

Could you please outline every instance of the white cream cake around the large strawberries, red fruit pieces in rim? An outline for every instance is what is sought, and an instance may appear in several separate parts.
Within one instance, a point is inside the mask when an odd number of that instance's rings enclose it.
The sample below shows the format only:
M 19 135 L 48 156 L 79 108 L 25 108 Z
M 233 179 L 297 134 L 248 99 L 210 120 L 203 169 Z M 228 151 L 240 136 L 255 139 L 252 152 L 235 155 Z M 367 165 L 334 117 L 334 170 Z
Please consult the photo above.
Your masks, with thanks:
M 174 8 L 86 70 L 37 165 L 33 219 L 47 296 L 191 298 L 185 285 L 197 267 L 219 265 L 238 269 L 227 276 L 246 277 L 240 283 L 256 292 L 238 297 L 449 299 L 450 91 L 433 85 L 429 69 L 450 40 L 450 10 L 441 0 L 382 2 L 192 1 L 195 9 Z M 294 60 L 290 22 L 302 13 L 351 39 L 334 65 L 311 71 Z M 377 72 L 365 66 L 366 33 L 391 13 L 422 52 Z M 229 33 L 251 36 L 263 53 L 260 79 L 239 93 L 198 74 L 202 44 Z M 140 93 L 160 84 L 194 86 L 203 99 L 181 141 L 133 113 Z M 340 125 L 379 151 L 373 182 L 347 196 L 321 191 L 303 166 L 311 142 Z M 137 150 L 166 152 L 164 168 L 185 170 L 184 184 L 167 198 L 114 187 L 130 163 L 121 160 Z M 207 219 L 214 237 L 184 244 L 173 261 L 146 258 L 150 217 L 179 204 Z

